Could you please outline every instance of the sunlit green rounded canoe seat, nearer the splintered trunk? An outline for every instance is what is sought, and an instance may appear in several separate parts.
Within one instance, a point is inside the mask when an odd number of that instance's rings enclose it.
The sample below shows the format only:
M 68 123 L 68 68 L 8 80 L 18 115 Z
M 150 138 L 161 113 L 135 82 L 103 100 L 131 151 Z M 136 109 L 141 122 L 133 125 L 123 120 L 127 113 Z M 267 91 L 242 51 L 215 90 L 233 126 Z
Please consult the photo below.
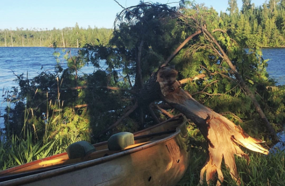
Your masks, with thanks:
M 108 140 L 108 149 L 110 151 L 123 150 L 129 145 L 134 144 L 134 136 L 131 132 L 119 132 L 112 135 Z

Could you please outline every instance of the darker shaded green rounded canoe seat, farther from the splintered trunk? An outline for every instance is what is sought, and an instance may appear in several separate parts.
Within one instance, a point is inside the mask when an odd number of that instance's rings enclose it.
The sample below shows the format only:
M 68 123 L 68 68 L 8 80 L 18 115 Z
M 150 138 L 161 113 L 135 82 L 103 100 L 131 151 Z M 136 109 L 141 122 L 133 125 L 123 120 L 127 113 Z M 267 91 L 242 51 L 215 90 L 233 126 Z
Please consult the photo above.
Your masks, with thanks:
M 75 159 L 78 157 L 84 157 L 94 152 L 95 150 L 95 147 L 93 147 L 93 145 L 87 141 L 79 141 L 69 145 L 66 149 L 66 152 L 70 159 Z

